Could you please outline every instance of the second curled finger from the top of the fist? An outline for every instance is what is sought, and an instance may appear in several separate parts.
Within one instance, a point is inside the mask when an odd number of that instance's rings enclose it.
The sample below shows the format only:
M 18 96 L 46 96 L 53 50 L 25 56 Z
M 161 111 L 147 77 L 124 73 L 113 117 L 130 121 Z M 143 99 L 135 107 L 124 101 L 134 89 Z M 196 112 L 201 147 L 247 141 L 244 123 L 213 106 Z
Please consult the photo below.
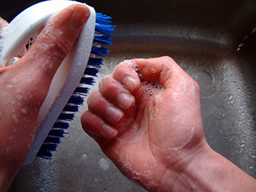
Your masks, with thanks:
M 111 75 L 105 76 L 99 82 L 99 92 L 102 96 L 121 110 L 128 110 L 135 104 L 135 97 Z

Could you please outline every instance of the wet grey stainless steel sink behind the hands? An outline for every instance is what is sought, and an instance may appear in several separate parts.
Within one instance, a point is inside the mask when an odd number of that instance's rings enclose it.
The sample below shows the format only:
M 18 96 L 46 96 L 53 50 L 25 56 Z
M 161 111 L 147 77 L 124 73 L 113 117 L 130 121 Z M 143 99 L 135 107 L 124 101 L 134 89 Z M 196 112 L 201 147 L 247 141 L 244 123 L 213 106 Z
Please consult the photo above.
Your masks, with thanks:
M 208 143 L 256 177 L 256 1 L 87 4 L 111 15 L 117 26 L 97 83 L 124 59 L 170 55 L 200 84 Z M 37 158 L 23 166 L 10 191 L 144 191 L 122 176 L 83 132 L 80 115 L 85 110 L 80 109 L 53 159 Z

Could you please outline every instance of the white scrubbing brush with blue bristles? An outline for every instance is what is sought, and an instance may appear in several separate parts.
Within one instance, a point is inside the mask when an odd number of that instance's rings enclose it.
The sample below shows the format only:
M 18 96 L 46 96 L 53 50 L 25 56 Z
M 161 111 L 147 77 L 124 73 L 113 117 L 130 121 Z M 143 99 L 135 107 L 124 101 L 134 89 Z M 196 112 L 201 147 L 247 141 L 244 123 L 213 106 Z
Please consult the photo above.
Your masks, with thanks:
M 25 9 L 8 26 L 7 37 L 1 54 L 2 64 L 23 53 L 24 46 L 29 49 L 39 29 L 45 23 L 77 1 L 42 1 Z M 84 4 L 84 6 L 87 6 Z M 87 6 L 89 7 L 89 6 Z M 35 156 L 51 158 L 69 127 L 69 121 L 75 118 L 78 106 L 83 104 L 89 88 L 94 84 L 100 66 L 102 66 L 108 48 L 100 45 L 111 45 L 110 36 L 114 32 L 110 17 L 96 13 L 89 7 L 90 16 L 80 32 L 72 50 L 59 66 L 37 120 L 37 134 L 25 164 L 31 164 Z M 15 32 L 15 31 L 18 31 Z

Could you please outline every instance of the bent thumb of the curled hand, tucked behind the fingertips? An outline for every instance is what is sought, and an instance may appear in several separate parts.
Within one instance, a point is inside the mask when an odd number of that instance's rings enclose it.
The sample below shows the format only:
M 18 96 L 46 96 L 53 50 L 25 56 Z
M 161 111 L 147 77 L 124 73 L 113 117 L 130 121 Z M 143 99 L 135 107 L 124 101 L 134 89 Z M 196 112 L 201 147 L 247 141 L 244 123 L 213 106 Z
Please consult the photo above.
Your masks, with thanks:
M 164 88 L 185 84 L 191 77 L 170 57 L 133 59 L 143 77 L 148 80 L 159 80 Z

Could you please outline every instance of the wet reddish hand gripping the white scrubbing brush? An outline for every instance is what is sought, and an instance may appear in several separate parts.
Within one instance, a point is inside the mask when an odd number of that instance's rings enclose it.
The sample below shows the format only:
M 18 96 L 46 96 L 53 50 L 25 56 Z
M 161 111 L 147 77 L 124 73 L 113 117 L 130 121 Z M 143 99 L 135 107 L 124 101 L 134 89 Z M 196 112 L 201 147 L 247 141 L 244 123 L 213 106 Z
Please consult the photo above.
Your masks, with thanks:
M 0 68 L 1 191 L 26 160 L 53 75 L 88 18 L 89 9 L 83 5 L 64 9 L 47 23 L 19 61 Z M 4 26 L 7 22 L 0 20 L 0 27 Z

